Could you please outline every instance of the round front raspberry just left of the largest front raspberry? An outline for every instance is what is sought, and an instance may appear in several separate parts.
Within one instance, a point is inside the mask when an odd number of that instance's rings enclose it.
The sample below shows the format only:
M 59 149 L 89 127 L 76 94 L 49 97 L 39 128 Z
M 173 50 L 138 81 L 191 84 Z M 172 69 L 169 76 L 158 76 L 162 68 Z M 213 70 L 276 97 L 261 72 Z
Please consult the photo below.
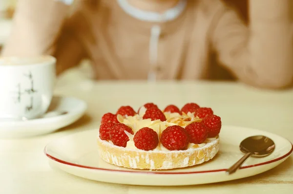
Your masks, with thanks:
M 142 128 L 135 133 L 133 141 L 136 148 L 149 151 L 158 146 L 159 137 L 153 129 Z

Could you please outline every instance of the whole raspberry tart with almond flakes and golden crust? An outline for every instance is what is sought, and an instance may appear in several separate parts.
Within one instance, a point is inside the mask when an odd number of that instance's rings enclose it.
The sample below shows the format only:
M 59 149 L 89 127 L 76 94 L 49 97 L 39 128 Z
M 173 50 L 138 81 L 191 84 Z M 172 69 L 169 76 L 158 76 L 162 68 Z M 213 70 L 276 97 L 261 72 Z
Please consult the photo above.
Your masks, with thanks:
M 163 110 L 147 103 L 138 112 L 125 106 L 102 117 L 99 154 L 107 163 L 131 169 L 194 166 L 216 155 L 221 126 L 211 108 L 195 103 Z

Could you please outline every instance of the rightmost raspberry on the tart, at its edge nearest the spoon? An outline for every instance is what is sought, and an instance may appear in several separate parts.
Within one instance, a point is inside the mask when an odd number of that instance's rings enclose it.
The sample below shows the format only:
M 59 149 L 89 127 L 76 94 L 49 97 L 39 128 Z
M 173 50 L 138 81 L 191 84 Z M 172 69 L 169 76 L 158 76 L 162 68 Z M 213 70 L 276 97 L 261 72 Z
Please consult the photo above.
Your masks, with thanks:
M 202 123 L 207 127 L 209 137 L 215 137 L 220 133 L 222 127 L 221 117 L 217 115 L 209 115 L 202 120 Z

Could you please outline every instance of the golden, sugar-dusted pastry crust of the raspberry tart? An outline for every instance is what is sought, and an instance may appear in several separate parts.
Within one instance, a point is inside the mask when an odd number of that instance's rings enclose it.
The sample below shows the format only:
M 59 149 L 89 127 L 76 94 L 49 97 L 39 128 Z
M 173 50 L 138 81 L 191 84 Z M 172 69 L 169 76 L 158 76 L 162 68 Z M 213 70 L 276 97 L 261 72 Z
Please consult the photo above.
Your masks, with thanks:
M 97 137 L 99 155 L 107 163 L 130 168 L 166 170 L 185 168 L 212 159 L 219 151 L 219 136 L 202 147 L 184 151 L 144 151 L 115 146 Z

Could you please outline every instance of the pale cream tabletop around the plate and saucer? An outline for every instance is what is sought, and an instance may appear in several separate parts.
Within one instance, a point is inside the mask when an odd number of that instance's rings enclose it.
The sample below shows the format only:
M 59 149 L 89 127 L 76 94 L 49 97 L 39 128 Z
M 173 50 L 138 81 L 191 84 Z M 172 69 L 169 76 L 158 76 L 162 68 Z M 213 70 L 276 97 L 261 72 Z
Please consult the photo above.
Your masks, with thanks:
M 43 154 L 50 141 L 77 131 L 99 127 L 105 112 L 122 105 L 137 109 L 146 102 L 163 108 L 196 102 L 212 107 L 225 125 L 262 129 L 293 142 L 293 90 L 259 90 L 229 82 L 92 82 L 60 81 L 56 95 L 75 96 L 88 103 L 82 119 L 54 133 L 25 139 L 0 140 L 1 194 L 210 194 L 214 192 L 289 194 L 293 189 L 293 156 L 276 168 L 248 178 L 207 185 L 146 187 L 118 185 L 79 178 L 53 170 Z M 78 81 L 76 81 L 78 80 Z

